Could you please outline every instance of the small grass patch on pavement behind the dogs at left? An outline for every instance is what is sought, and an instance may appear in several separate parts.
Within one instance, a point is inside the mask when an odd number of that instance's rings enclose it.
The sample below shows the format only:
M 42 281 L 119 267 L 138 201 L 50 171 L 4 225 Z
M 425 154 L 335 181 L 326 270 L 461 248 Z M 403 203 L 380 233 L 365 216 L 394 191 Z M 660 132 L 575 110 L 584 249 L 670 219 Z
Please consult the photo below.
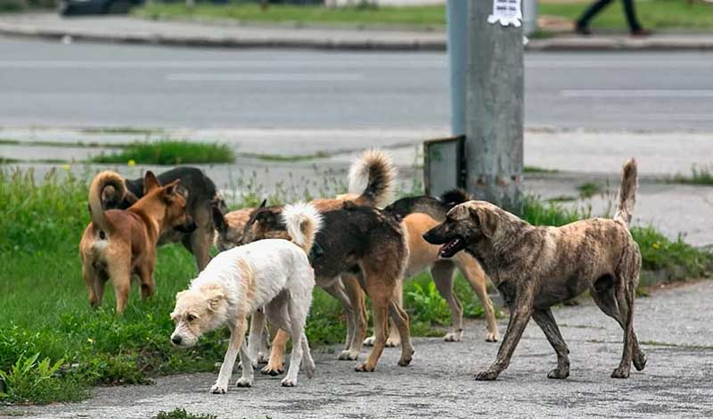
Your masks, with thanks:
M 233 163 L 233 149 L 225 144 L 190 143 L 188 141 L 162 140 L 127 144 L 120 152 L 102 153 L 92 158 L 94 163 L 135 164 L 209 164 Z

